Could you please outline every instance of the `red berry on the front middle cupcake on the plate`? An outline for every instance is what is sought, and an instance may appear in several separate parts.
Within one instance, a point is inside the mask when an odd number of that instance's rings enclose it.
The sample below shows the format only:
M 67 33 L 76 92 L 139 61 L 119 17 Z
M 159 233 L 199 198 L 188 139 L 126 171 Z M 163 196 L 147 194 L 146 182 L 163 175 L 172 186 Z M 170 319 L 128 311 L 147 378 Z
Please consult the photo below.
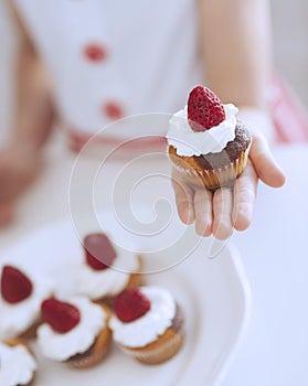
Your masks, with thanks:
M 62 334 L 74 329 L 81 320 L 81 313 L 75 305 L 55 298 L 44 300 L 41 312 L 43 321 Z

